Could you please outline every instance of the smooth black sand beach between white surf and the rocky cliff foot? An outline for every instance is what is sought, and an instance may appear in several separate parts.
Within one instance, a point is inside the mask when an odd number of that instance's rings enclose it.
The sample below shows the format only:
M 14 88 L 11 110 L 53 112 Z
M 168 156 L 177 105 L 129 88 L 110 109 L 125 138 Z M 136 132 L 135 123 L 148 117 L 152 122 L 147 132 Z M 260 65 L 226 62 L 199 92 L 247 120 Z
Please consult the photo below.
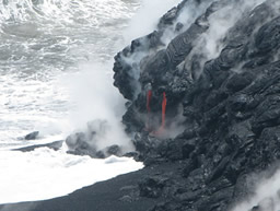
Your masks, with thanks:
M 0 204 L 0 211 L 147 211 L 165 200 L 140 196 L 139 183 L 168 168 L 174 168 L 174 164 L 144 167 L 59 198 Z

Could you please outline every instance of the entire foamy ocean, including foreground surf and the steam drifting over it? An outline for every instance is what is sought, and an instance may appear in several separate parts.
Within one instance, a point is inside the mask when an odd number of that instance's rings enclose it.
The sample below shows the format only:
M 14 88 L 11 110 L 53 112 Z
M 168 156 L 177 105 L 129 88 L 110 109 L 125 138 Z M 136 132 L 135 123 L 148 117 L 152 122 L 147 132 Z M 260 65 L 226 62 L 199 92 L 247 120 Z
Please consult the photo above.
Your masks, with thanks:
M 63 140 L 101 116 L 113 125 L 112 137 L 129 144 L 112 66 L 140 7 L 139 0 L 0 1 L 0 203 L 63 196 L 143 167 L 131 159 L 70 155 L 66 145 L 11 151 Z M 22 139 L 35 130 L 37 140 Z

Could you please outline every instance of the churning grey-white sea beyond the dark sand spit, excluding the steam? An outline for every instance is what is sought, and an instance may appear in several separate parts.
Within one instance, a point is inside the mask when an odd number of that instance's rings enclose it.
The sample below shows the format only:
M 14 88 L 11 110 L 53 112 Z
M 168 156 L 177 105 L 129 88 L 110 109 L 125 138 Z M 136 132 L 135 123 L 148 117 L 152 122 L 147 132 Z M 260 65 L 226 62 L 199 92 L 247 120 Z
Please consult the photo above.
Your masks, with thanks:
M 0 146 L 33 130 L 65 130 L 74 105 L 63 77 L 106 63 L 121 46 L 138 0 L 0 2 Z M 110 71 L 108 68 L 107 71 Z M 62 78 L 62 79 L 61 79 Z

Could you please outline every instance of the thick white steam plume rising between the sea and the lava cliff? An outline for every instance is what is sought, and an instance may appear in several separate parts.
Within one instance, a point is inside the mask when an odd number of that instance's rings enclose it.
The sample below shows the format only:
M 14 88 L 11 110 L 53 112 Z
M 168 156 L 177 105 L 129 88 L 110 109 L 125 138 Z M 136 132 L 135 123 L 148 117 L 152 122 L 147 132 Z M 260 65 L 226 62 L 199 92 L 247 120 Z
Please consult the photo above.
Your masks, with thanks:
M 98 136 L 94 139 L 97 150 L 113 144 L 124 146 L 124 151 L 132 150 L 130 139 L 121 125 L 125 101 L 113 85 L 112 67 L 88 63 L 82 65 L 80 73 L 73 73 L 66 80 L 75 104 L 71 128 L 97 132 Z M 95 124 L 89 124 L 91 121 Z M 104 127 L 97 126 L 97 122 L 103 122 Z M 102 131 L 88 131 L 91 129 Z

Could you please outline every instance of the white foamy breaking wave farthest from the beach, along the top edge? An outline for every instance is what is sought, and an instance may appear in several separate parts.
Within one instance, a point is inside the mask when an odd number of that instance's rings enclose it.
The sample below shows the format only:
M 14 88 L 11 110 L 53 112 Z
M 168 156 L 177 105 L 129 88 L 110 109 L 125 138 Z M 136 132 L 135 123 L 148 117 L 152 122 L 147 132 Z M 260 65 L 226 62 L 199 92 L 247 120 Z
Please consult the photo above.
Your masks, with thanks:
M 106 11 L 106 12 L 104 12 Z M 51 21 L 98 27 L 102 22 L 130 15 L 130 7 L 121 0 L 2 0 L 0 21 Z

